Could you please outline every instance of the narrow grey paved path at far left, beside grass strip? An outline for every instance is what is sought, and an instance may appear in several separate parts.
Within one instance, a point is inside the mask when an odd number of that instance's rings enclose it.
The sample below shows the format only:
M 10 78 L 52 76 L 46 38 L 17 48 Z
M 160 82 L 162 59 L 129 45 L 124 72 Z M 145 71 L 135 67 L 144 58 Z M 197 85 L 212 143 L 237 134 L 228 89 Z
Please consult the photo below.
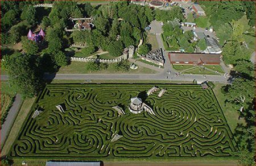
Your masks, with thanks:
M 13 102 L 13 106 L 11 106 L 11 109 L 9 110 L 9 113 L 6 117 L 6 121 L 2 125 L 1 146 L 3 145 L 3 143 L 5 143 L 6 136 L 7 136 L 8 132 L 11 130 L 11 126 L 13 125 L 14 119 L 19 112 L 19 106 L 21 103 L 22 103 L 21 96 L 19 94 L 16 94 L 14 102 Z

